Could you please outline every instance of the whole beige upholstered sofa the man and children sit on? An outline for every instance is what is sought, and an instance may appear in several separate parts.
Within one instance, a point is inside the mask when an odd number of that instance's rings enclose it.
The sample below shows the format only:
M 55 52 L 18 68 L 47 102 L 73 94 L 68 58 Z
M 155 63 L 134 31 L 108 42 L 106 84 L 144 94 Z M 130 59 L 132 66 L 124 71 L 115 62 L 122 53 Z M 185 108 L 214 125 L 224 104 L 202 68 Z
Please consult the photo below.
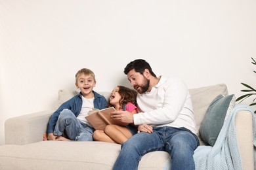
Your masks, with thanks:
M 58 105 L 74 96 L 74 90 L 60 90 Z M 108 98 L 109 92 L 102 93 Z M 190 89 L 198 129 L 213 99 L 227 95 L 225 84 Z M 42 141 L 54 110 L 10 118 L 5 122 L 5 145 L 0 146 L 0 169 L 112 169 L 120 144 L 104 142 Z M 242 167 L 254 169 L 253 122 L 251 112 L 236 116 L 238 150 Z M 200 135 L 198 136 L 200 139 Z M 200 139 L 200 145 L 203 145 Z M 169 169 L 167 152 L 150 152 L 142 157 L 139 169 Z

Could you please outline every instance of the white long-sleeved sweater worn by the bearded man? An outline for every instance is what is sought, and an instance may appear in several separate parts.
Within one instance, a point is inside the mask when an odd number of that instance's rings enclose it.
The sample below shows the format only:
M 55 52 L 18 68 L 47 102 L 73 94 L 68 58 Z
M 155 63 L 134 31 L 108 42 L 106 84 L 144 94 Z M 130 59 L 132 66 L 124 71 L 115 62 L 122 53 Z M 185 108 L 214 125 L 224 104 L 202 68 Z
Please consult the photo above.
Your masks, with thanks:
M 186 127 L 197 134 L 190 93 L 180 78 L 160 77 L 150 92 L 137 95 L 141 112 L 133 115 L 135 125 Z

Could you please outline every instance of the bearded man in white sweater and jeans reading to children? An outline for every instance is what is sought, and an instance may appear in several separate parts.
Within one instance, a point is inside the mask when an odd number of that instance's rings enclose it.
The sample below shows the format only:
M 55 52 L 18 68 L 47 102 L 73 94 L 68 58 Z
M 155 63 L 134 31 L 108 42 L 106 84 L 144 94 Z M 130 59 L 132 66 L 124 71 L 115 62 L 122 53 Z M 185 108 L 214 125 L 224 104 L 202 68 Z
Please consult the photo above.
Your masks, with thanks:
M 141 112 L 112 114 L 116 120 L 139 125 L 138 133 L 121 145 L 114 169 L 137 169 L 142 156 L 156 150 L 169 152 L 172 170 L 195 169 L 193 154 L 199 141 L 186 84 L 179 78 L 157 77 L 144 59 L 131 61 L 124 73 L 139 92 Z

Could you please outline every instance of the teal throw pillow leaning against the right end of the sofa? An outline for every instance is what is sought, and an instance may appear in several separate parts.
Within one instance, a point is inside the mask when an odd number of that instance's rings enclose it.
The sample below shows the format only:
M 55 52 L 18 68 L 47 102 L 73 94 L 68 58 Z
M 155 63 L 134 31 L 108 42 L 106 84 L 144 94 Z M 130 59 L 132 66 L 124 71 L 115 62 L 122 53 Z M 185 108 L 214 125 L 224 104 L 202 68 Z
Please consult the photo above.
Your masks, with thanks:
M 220 94 L 213 99 L 200 126 L 200 136 L 205 143 L 211 146 L 215 144 L 226 115 L 234 108 L 235 102 L 234 94 L 227 96 Z

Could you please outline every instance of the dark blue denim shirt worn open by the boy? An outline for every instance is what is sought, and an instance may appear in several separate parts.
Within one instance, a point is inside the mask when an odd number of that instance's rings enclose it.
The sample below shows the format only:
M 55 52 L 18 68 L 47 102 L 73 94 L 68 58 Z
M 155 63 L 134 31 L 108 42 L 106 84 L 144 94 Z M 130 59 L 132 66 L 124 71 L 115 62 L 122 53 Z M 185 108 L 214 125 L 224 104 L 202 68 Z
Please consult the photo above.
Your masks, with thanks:
M 95 91 L 93 91 L 93 93 L 95 95 L 95 99 L 93 100 L 94 107 L 96 109 L 106 108 L 106 105 L 107 105 L 106 98 L 103 95 L 96 93 Z M 75 95 L 74 97 L 72 97 L 71 99 L 69 99 L 68 101 L 66 101 L 65 103 L 63 103 L 62 105 L 60 105 L 60 107 L 53 113 L 53 115 L 51 116 L 51 118 L 49 120 L 47 133 L 53 133 L 54 128 L 56 126 L 56 122 L 58 120 L 58 116 L 60 115 L 60 112 L 63 109 L 70 109 L 75 114 L 76 117 L 78 116 L 78 114 L 81 111 L 82 104 L 83 104 L 81 95 L 82 95 L 82 93 L 80 92 L 77 95 Z

